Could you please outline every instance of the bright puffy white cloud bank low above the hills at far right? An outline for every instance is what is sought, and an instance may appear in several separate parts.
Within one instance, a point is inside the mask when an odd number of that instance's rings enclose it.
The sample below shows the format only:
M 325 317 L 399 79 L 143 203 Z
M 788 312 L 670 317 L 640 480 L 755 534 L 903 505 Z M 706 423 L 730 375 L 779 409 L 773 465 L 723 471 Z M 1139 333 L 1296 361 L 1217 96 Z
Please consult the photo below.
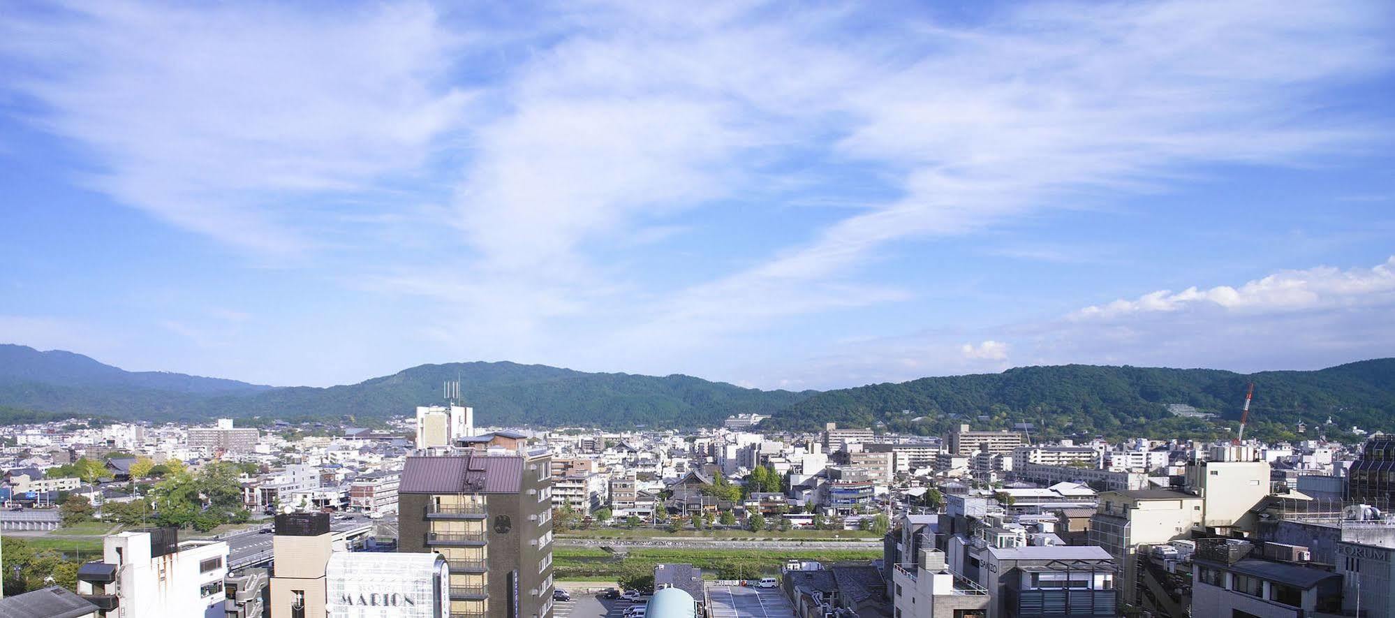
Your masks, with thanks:
M 1131 314 L 1182 311 L 1198 306 L 1236 312 L 1282 312 L 1313 308 L 1338 308 L 1395 299 L 1395 257 L 1371 268 L 1339 271 L 1317 266 L 1304 271 L 1281 271 L 1239 287 L 1187 287 L 1149 292 L 1134 300 L 1119 299 L 1085 307 L 1073 319 L 1109 319 Z

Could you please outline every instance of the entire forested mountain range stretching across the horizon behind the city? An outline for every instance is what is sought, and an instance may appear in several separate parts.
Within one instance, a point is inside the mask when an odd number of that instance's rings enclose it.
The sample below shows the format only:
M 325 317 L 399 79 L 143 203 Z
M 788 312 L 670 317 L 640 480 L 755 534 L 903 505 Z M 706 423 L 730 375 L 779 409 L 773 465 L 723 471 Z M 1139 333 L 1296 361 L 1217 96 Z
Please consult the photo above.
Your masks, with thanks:
M 425 364 L 353 385 L 272 388 L 218 378 L 127 372 L 68 352 L 0 346 L 0 423 L 33 413 L 208 421 L 215 417 L 307 420 L 353 416 L 371 424 L 441 402 L 462 381 L 480 424 L 713 427 L 738 413 L 774 413 L 763 428 L 879 427 L 923 435 L 960 423 L 1036 437 L 1221 435 L 1256 384 L 1256 437 L 1293 438 L 1302 420 L 1331 434 L 1360 425 L 1395 431 L 1395 359 L 1320 371 L 1149 367 L 1018 367 L 1000 374 L 921 378 L 826 392 L 757 391 L 688 375 L 593 374 L 516 363 Z M 1182 419 L 1168 405 L 1214 413 Z M 1332 417 L 1334 425 L 1324 425 Z M 1311 435 L 1311 434 L 1310 434 Z

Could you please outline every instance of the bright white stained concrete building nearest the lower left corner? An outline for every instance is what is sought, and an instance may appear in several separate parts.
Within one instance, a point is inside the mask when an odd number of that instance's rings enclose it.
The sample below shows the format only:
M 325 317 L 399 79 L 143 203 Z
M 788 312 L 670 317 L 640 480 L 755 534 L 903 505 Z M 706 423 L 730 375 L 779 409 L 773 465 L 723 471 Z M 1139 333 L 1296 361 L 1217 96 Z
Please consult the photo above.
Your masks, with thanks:
M 225 618 L 227 543 L 179 541 L 156 527 L 106 537 L 102 562 L 78 568 L 78 594 L 107 618 Z

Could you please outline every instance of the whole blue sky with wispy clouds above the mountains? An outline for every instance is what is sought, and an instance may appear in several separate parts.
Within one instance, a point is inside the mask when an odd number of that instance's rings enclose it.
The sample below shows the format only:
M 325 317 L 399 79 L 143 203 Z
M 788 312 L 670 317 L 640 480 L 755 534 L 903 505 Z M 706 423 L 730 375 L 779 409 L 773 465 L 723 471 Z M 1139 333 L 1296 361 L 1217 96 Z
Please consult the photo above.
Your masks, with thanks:
M 1395 354 L 1381 1 L 7 3 L 0 340 L 275 385 Z

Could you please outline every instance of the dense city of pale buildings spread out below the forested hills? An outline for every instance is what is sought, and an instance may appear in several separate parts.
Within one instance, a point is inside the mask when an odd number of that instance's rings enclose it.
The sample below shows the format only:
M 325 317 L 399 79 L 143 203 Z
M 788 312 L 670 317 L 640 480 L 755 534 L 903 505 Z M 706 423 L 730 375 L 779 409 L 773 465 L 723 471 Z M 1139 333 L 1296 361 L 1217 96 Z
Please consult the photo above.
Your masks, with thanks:
M 1342 444 L 1314 423 L 1293 428 L 1304 439 L 1275 444 L 1042 442 L 1031 423 L 985 431 L 965 419 L 944 437 L 834 423 L 764 432 L 762 414 L 696 432 L 491 428 L 458 384 L 442 392 L 382 428 L 4 427 L 0 608 L 113 618 L 1391 608 L 1395 438 L 1382 434 Z

